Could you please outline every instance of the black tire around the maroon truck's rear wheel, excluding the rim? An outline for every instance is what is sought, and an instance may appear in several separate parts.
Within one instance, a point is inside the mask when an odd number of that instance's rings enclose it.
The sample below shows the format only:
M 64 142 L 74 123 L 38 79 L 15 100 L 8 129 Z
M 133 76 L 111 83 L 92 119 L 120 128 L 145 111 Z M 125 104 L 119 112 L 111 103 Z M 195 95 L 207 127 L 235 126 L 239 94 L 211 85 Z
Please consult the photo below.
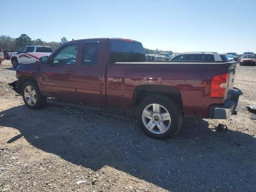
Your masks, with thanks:
M 166 109 L 166 111 L 170 114 L 170 118 L 171 118 L 170 127 L 166 132 L 160 133 L 160 134 L 153 133 L 150 130 L 148 130 L 144 125 L 142 120 L 142 114 L 144 109 L 150 104 L 159 104 L 163 106 Z M 137 110 L 137 121 L 141 130 L 147 136 L 154 139 L 158 139 L 158 140 L 165 140 L 172 137 L 174 134 L 176 134 L 180 130 L 180 127 L 182 125 L 182 118 L 183 118 L 182 112 L 179 106 L 176 104 L 176 102 L 174 102 L 174 100 L 166 96 L 160 96 L 160 95 L 149 96 L 140 103 Z M 154 129 L 158 129 L 157 126 L 155 126 Z

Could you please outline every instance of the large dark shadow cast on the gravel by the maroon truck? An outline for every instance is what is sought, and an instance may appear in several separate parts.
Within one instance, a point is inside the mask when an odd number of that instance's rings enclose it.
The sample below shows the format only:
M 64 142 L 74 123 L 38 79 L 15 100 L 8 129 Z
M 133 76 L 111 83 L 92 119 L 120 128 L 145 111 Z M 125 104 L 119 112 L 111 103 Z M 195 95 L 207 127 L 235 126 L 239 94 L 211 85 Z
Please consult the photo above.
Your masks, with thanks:
M 233 130 L 215 132 L 205 120 L 186 119 L 174 138 L 159 141 L 136 124 L 90 119 L 87 112 L 80 120 L 58 108 L 17 106 L 1 115 L 0 126 L 20 131 L 6 142 L 24 136 L 36 148 L 86 168 L 111 166 L 166 190 L 210 191 L 215 185 L 222 191 L 255 190 L 255 138 Z

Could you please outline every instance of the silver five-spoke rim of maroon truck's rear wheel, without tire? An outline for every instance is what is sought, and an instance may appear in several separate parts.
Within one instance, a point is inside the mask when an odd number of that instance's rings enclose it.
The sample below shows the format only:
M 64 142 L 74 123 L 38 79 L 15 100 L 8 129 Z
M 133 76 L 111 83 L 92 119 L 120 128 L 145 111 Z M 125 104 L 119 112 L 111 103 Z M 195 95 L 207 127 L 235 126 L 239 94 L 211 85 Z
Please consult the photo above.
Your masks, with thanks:
M 160 104 L 150 104 L 146 106 L 142 113 L 144 126 L 154 134 L 166 132 L 171 125 L 169 112 Z

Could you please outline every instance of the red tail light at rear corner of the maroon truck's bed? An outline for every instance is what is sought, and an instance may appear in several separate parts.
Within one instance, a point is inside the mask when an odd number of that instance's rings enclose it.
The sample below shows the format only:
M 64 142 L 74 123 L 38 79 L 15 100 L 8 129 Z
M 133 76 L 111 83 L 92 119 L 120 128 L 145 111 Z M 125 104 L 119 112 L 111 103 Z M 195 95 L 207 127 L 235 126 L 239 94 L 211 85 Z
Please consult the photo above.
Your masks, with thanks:
M 211 83 L 211 98 L 225 98 L 227 86 L 227 73 L 214 76 Z

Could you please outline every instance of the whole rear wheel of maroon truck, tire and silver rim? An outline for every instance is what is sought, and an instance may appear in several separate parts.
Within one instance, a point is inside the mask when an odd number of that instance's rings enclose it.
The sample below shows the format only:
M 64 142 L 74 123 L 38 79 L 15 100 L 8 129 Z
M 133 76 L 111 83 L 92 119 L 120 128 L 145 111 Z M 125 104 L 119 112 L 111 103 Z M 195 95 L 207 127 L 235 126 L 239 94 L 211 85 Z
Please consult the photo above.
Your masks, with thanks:
M 182 113 L 171 98 L 150 96 L 138 106 L 137 120 L 146 135 L 154 139 L 165 140 L 180 129 Z

